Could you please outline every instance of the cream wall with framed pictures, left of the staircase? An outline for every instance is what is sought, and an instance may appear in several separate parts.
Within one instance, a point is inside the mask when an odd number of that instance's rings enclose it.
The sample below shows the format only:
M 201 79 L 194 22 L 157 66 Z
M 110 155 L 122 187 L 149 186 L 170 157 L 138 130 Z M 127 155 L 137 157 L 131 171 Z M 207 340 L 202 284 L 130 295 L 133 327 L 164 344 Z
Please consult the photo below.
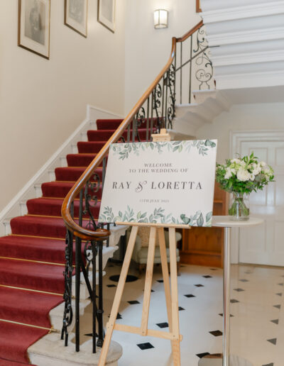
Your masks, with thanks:
M 0 1 L 0 211 L 84 120 L 87 104 L 124 111 L 124 1 L 116 33 L 97 22 L 89 0 L 88 38 L 64 25 L 51 1 L 50 60 L 17 46 L 18 0 Z

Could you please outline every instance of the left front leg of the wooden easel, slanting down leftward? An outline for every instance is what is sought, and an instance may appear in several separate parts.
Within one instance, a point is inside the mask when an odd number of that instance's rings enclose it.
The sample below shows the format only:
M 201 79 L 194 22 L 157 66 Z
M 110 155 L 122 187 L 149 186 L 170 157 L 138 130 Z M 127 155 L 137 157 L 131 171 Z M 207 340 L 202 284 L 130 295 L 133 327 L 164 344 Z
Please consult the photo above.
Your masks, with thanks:
M 119 312 L 119 304 L 121 302 L 122 293 L 124 292 L 124 285 L 126 282 L 126 276 L 129 272 L 129 265 L 131 261 L 131 256 L 133 253 L 133 248 L 135 245 L 136 236 L 138 233 L 138 226 L 133 226 L 131 230 L 131 235 L 129 238 L 129 243 L 126 249 L 126 255 L 124 257 L 124 263 L 121 268 L 121 274 L 119 277 L 119 283 L 117 285 L 116 294 L 114 296 L 114 304 L 111 308 L 111 315 L 109 316 L 109 322 L 107 323 L 107 332 L 104 337 L 104 344 L 102 346 L 102 353 L 99 357 L 99 366 L 104 366 L 107 360 L 107 352 L 109 350 L 109 344 L 111 342 L 111 336 L 114 331 L 114 324 L 116 321 L 117 314 Z

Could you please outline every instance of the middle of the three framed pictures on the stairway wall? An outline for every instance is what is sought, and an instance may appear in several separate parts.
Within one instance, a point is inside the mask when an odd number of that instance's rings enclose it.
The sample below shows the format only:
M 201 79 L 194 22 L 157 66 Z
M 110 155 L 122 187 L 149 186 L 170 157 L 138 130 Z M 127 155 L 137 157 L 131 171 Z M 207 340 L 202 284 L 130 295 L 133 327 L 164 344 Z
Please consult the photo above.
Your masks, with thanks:
M 87 38 L 88 0 L 65 0 L 65 25 Z

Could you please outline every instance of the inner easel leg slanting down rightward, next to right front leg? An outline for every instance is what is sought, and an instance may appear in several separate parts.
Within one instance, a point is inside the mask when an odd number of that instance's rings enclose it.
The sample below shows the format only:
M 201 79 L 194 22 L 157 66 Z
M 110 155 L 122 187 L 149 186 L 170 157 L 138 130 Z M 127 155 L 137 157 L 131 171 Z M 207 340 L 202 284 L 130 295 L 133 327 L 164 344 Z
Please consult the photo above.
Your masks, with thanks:
M 159 237 L 159 245 L 160 245 L 160 262 L 162 265 L 163 272 L 163 281 L 165 288 L 165 304 L 167 305 L 168 312 L 168 325 L 170 332 L 173 331 L 172 326 L 172 299 L 170 298 L 170 277 L 168 274 L 168 258 L 167 258 L 167 250 L 165 248 L 165 233 L 164 228 L 158 228 L 158 237 Z M 173 344 L 172 344 L 173 348 Z

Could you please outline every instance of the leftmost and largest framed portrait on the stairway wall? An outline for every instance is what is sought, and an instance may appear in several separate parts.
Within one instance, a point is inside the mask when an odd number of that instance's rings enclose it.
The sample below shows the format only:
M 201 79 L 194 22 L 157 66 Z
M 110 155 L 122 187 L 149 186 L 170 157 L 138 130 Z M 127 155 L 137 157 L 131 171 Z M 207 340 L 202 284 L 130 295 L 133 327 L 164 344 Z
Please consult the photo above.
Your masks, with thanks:
M 18 0 L 18 45 L 49 59 L 50 0 Z

